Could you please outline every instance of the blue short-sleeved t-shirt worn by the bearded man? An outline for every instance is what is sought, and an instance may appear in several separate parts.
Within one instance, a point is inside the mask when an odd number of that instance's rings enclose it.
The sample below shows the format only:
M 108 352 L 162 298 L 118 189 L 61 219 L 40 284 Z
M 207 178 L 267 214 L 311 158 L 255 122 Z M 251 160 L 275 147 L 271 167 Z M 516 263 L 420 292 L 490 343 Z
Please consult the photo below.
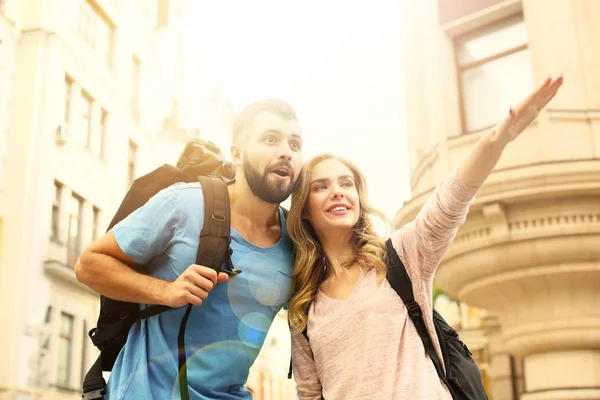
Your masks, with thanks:
M 231 256 L 242 273 L 218 283 L 193 307 L 185 333 L 190 399 L 251 399 L 244 387 L 273 318 L 292 291 L 292 244 L 282 236 L 258 247 L 231 230 Z M 177 183 L 117 224 L 125 254 L 153 264 L 154 276 L 175 280 L 196 261 L 204 220 L 199 183 Z M 134 324 L 107 385 L 107 399 L 179 399 L 177 335 L 186 307 Z

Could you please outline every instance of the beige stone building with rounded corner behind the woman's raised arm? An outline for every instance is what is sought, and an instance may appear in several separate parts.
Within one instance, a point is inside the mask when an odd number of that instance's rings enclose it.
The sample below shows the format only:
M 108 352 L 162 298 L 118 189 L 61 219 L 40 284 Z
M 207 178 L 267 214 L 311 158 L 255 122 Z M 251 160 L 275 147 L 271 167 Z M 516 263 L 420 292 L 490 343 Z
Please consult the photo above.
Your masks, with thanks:
M 477 346 L 491 399 L 600 398 L 600 2 L 420 0 L 405 16 L 412 199 L 396 226 L 514 102 L 564 73 L 481 189 L 436 283 L 487 310 Z

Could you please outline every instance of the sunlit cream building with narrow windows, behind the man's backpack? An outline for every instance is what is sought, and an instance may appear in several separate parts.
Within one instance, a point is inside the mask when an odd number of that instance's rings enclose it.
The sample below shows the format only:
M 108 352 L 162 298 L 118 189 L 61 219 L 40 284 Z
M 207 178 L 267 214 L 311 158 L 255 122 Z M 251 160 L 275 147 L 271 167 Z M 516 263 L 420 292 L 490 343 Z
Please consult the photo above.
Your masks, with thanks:
M 0 1 L 2 400 L 81 396 L 99 301 L 73 264 L 199 131 L 186 4 Z

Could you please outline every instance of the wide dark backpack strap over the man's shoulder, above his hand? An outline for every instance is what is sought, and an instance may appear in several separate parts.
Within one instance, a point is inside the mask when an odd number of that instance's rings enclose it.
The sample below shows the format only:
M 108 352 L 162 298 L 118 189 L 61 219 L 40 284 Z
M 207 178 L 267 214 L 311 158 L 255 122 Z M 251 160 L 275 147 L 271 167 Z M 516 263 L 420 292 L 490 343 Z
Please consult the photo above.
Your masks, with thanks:
M 196 264 L 217 272 L 229 257 L 231 216 L 227 184 L 220 178 L 198 176 L 204 194 L 204 225 L 200 232 L 200 245 Z

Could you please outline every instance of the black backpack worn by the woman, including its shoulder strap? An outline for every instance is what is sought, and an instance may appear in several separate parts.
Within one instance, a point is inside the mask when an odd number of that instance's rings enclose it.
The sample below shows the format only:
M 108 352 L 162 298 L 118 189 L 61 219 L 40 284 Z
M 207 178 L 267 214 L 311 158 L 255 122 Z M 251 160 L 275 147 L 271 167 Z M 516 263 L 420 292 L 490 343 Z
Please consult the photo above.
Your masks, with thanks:
M 481 374 L 479 373 L 477 364 L 475 364 L 475 361 L 471 357 L 471 351 L 460 340 L 458 333 L 434 309 L 433 324 L 440 341 L 442 357 L 446 366 L 446 372 L 444 373 L 429 332 L 425 327 L 421 307 L 415 301 L 412 284 L 406 268 L 394 249 L 391 239 L 388 239 L 385 244 L 388 257 L 386 274 L 388 283 L 406 305 L 408 315 L 417 328 L 417 332 L 419 332 L 425 351 L 429 355 L 429 358 L 431 358 L 438 377 L 450 390 L 452 399 L 487 400 Z M 306 329 L 302 334 L 308 340 Z M 292 367 L 290 363 L 288 378 L 291 378 L 291 372 Z

